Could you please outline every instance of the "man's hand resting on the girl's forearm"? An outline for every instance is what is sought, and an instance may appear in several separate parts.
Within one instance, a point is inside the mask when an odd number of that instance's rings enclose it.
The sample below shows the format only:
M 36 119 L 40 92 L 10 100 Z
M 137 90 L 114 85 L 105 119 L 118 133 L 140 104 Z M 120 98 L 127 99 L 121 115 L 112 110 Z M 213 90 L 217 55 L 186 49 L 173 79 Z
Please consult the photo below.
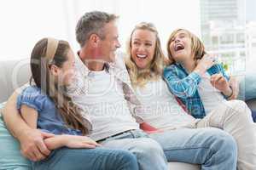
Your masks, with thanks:
M 20 151 L 23 156 L 31 161 L 40 161 L 49 156 L 50 150 L 44 144 L 44 139 L 53 137 L 54 134 L 44 133 L 38 129 L 30 129 L 20 134 Z

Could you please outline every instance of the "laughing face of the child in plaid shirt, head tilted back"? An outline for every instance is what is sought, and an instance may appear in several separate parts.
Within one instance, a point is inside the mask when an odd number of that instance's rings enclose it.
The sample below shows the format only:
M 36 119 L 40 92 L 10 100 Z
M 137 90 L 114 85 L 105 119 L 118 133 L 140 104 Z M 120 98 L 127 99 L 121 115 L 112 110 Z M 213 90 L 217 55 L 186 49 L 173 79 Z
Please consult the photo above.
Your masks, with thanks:
M 172 58 L 176 62 L 183 63 L 184 60 L 194 59 L 191 52 L 191 37 L 187 31 L 177 31 L 177 33 L 171 37 L 169 50 Z

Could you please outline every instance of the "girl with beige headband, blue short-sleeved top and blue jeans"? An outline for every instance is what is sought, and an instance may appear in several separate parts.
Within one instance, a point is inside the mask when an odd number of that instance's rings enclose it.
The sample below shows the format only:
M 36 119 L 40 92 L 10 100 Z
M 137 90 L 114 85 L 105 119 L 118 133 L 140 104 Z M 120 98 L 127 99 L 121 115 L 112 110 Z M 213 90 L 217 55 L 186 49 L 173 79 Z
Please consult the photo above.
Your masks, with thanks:
M 44 38 L 32 50 L 33 84 L 18 97 L 17 108 L 32 128 L 54 133 L 44 143 L 51 154 L 32 162 L 34 169 L 138 169 L 136 157 L 125 150 L 108 150 L 84 136 L 88 118 L 66 94 L 73 78 L 74 54 L 68 42 Z M 32 83 L 32 82 L 31 82 Z

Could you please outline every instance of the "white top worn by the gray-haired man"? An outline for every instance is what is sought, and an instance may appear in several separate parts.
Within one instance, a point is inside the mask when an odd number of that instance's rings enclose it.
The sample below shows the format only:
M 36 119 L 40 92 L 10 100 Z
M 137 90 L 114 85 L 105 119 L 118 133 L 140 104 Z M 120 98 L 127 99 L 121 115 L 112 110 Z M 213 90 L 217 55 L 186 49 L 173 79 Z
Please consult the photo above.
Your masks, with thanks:
M 89 71 L 78 58 L 76 59 L 75 92 L 73 101 L 90 118 L 92 133 L 90 138 L 100 140 L 131 129 L 139 129 L 139 124 L 131 116 L 124 97 L 122 83 L 107 69 Z

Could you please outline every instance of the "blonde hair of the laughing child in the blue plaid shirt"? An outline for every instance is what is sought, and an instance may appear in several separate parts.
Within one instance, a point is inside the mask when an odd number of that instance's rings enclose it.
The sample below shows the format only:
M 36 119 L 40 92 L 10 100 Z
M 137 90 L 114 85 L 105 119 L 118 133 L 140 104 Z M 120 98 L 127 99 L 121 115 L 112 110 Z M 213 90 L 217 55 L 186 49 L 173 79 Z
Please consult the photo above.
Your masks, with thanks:
M 177 35 L 177 33 L 179 31 L 185 31 L 189 34 L 189 37 L 191 38 L 191 52 L 194 56 L 194 59 L 195 60 L 201 59 L 204 56 L 204 54 L 206 54 L 204 44 L 201 42 L 199 37 L 196 37 L 195 34 L 193 34 L 192 32 L 190 32 L 186 29 L 179 28 L 175 31 L 172 31 L 172 34 L 169 37 L 168 42 L 167 42 L 167 53 L 168 53 L 168 58 L 170 59 L 170 62 L 172 64 L 175 63 L 175 60 L 173 59 L 172 53 L 170 50 L 170 43 L 172 42 L 172 39 Z

